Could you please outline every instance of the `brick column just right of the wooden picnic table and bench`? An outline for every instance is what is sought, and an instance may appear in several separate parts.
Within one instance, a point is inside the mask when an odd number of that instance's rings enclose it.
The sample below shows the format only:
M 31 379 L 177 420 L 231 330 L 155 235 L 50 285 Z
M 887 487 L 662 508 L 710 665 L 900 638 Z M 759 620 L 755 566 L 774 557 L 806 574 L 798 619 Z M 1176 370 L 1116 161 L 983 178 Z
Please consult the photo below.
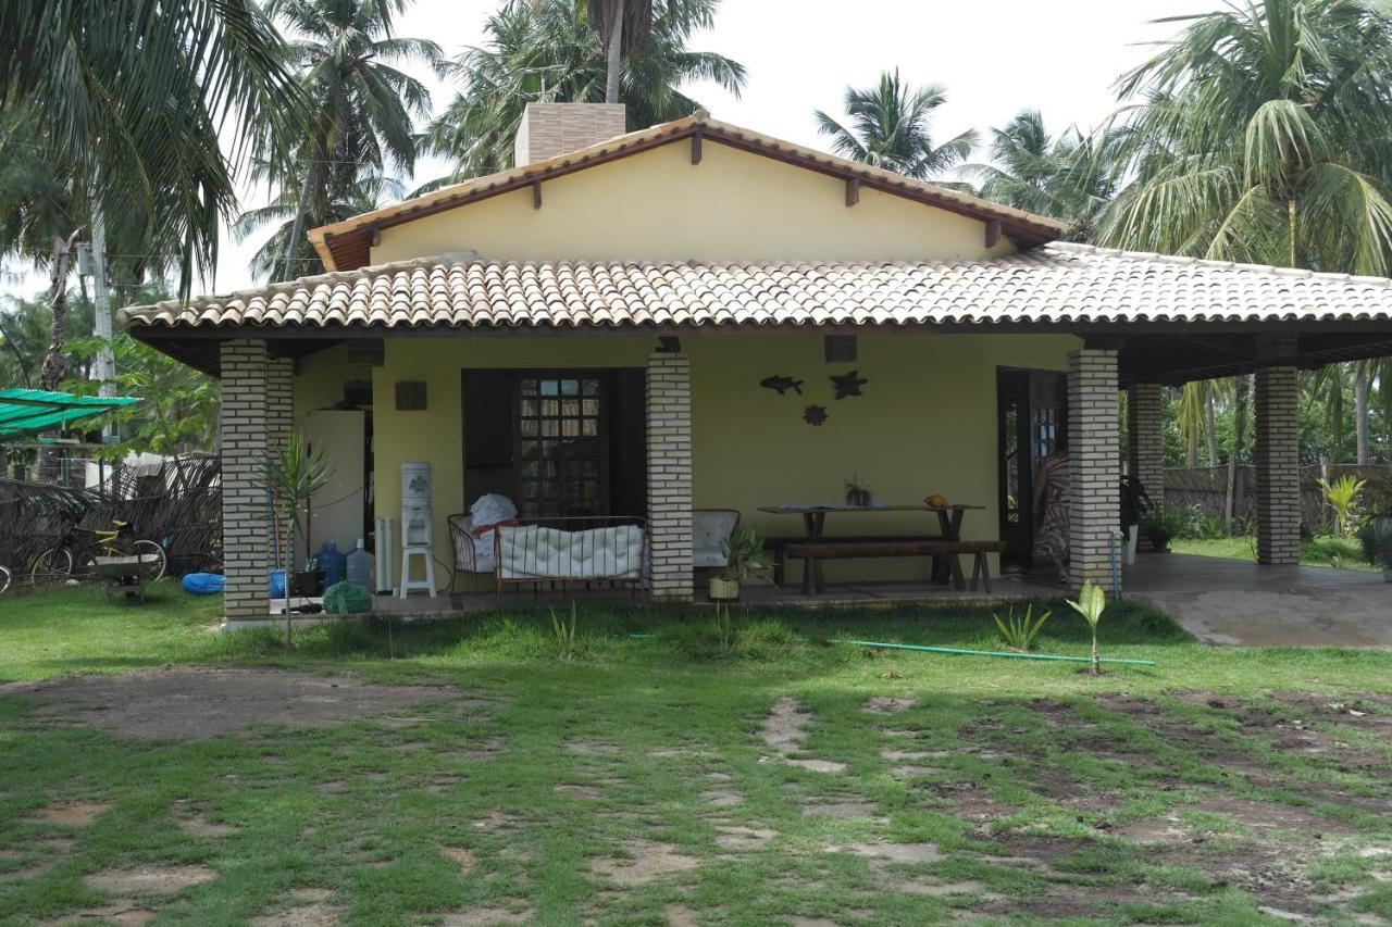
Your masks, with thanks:
M 1073 586 L 1093 582 L 1111 589 L 1112 585 L 1111 546 L 1121 525 L 1116 393 L 1115 351 L 1083 348 L 1068 356 L 1068 451 L 1072 464 L 1068 572 Z

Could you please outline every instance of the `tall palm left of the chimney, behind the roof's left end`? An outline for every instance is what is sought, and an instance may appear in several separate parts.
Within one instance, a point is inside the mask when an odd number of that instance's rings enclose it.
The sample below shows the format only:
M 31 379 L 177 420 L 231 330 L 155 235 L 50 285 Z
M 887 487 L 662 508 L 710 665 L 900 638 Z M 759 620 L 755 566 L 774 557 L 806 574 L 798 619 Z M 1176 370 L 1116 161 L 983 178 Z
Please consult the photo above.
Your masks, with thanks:
M 416 143 L 412 117 L 430 114 L 425 85 L 393 67 L 437 67 L 440 46 L 391 35 L 391 15 L 404 0 L 271 0 L 266 11 L 294 35 L 291 56 L 312 113 L 308 129 L 269 134 L 273 156 L 259 161 L 259 178 L 295 191 L 296 206 L 277 278 L 302 276 L 296 259 L 306 221 L 327 221 L 330 205 L 359 182 L 362 171 L 409 173 Z M 274 128 L 274 127 L 273 127 Z M 316 259 L 309 259 L 316 260 Z M 262 264 L 264 269 L 264 264 Z

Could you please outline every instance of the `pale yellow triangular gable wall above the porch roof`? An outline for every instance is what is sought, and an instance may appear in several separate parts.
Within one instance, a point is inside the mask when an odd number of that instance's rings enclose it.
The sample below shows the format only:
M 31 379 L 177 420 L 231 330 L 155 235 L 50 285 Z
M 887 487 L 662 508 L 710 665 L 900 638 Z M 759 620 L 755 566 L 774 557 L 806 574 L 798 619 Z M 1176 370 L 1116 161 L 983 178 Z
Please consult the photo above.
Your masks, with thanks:
M 984 223 L 707 141 L 679 141 L 532 189 L 381 230 L 372 263 L 475 251 L 536 260 L 926 260 L 986 258 Z

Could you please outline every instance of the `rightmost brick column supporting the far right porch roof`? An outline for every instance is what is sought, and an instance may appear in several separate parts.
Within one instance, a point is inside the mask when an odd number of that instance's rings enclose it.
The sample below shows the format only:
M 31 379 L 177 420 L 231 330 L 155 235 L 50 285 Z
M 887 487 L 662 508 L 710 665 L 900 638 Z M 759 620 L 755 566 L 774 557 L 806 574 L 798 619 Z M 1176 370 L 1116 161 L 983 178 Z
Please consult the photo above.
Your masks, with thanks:
M 1296 369 L 1257 370 L 1257 562 L 1300 562 L 1300 434 Z

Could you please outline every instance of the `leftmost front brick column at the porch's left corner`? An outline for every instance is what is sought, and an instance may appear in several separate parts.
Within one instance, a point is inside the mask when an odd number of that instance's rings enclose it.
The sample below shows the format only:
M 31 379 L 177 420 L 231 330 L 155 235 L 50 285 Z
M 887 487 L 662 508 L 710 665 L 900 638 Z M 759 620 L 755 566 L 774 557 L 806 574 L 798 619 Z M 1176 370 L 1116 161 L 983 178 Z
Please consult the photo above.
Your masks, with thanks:
M 256 480 L 269 441 L 266 342 L 224 341 L 221 360 L 223 611 L 230 622 L 264 621 L 270 530 Z

